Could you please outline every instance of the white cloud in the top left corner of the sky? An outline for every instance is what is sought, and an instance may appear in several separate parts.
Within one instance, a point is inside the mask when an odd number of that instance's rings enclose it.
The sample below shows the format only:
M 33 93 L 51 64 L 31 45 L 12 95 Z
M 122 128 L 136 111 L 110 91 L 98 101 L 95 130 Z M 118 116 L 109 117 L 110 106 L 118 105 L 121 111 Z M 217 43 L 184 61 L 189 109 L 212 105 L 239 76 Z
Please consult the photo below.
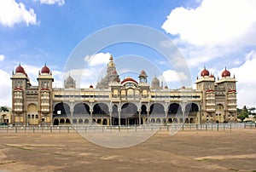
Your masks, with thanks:
M 14 26 L 18 23 L 26 23 L 26 26 L 37 24 L 37 14 L 34 9 L 26 9 L 23 3 L 15 0 L 0 1 L 0 24 Z

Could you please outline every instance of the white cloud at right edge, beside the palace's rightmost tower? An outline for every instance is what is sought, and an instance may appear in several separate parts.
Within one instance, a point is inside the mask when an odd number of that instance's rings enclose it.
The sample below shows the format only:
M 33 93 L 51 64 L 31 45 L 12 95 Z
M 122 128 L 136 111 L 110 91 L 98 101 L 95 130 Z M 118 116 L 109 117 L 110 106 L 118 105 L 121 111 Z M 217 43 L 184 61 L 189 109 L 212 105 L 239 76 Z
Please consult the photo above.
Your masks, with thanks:
M 231 75 L 236 75 L 237 104 L 241 106 L 256 106 L 255 88 L 256 51 L 252 50 L 246 56 L 246 62 L 239 67 L 230 69 Z

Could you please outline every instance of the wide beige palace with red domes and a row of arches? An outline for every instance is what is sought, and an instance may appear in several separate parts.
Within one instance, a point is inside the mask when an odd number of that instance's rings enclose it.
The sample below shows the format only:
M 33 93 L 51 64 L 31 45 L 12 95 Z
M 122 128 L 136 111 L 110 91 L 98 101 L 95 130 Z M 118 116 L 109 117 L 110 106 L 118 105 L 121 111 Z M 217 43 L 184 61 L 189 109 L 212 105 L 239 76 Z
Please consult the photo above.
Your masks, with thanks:
M 148 123 L 236 122 L 236 78 L 224 69 L 215 78 L 204 68 L 196 89 L 169 89 L 141 71 L 138 81 L 119 79 L 113 57 L 106 77 L 90 88 L 76 88 L 69 76 L 64 88 L 53 88 L 48 66 L 32 86 L 26 71 L 17 66 L 12 80 L 12 122 L 15 125 L 140 125 Z

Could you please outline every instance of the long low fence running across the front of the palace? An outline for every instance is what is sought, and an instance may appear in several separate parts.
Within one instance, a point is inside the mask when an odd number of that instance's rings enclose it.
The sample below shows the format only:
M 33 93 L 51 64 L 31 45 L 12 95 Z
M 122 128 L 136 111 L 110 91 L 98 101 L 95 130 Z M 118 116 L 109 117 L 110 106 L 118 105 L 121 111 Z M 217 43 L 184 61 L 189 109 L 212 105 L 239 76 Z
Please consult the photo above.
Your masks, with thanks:
M 232 129 L 256 129 L 256 123 L 200 123 L 171 125 L 74 125 L 74 126 L 1 126 L 0 133 L 75 133 L 75 132 L 146 132 L 146 131 L 183 131 L 215 130 L 231 131 Z

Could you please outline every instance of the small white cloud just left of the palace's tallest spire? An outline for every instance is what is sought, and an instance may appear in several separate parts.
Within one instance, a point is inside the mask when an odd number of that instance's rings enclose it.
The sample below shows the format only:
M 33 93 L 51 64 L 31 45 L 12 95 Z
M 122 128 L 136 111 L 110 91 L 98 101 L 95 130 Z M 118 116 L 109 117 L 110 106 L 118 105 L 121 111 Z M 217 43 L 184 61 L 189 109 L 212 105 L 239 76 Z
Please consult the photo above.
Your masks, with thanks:
M 102 64 L 108 64 L 110 56 L 111 56 L 111 54 L 109 54 L 109 53 L 91 54 L 91 55 L 86 55 L 84 57 L 84 61 L 88 62 L 88 66 L 97 66 L 97 65 L 102 65 Z

